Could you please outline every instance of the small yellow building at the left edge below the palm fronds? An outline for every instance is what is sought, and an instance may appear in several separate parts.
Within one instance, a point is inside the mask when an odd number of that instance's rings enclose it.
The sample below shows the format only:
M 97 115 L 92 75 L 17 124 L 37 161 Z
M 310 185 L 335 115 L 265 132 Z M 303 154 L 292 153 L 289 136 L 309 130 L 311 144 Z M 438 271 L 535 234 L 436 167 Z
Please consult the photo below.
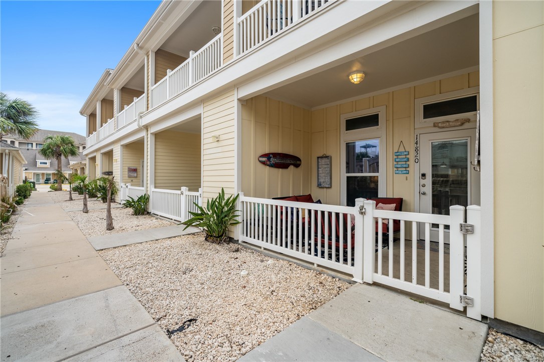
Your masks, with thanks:
M 23 182 L 22 165 L 26 162 L 21 149 L 3 140 L 0 142 L 0 195 L 15 194 L 15 187 Z

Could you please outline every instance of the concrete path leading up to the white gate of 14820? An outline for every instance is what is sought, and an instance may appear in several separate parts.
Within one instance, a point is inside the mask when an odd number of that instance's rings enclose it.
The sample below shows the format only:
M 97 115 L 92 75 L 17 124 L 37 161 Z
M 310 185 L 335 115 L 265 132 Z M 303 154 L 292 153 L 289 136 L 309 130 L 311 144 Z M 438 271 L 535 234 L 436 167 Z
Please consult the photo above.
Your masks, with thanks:
M 240 361 L 478 361 L 487 325 L 355 284 Z

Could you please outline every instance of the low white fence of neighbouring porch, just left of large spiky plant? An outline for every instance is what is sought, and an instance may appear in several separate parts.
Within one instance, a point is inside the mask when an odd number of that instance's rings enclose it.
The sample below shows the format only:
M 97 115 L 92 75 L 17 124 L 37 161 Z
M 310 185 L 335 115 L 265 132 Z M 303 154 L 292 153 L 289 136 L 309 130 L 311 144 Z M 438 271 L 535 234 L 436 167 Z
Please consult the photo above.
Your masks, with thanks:
M 187 187 L 180 190 L 151 190 L 151 213 L 165 218 L 181 222 L 189 219 L 189 211 L 197 211 L 193 202 L 202 205 L 202 189 L 198 192 L 190 192 Z

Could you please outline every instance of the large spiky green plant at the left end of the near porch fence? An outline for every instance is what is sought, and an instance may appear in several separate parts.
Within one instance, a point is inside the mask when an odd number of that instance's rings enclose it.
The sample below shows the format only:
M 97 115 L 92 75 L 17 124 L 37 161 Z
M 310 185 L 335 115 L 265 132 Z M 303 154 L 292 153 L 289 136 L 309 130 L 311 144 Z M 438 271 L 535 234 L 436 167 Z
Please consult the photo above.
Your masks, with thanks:
M 186 230 L 189 226 L 201 227 L 206 233 L 206 240 L 214 243 L 222 243 L 228 238 L 228 227 L 240 224 L 236 218 L 239 210 L 236 209 L 238 196 L 228 196 L 225 199 L 225 190 L 221 188 L 221 192 L 216 198 L 208 199 L 206 207 L 199 206 L 194 203 L 199 209 L 199 212 L 191 212 L 192 218 L 185 221 L 183 224 Z

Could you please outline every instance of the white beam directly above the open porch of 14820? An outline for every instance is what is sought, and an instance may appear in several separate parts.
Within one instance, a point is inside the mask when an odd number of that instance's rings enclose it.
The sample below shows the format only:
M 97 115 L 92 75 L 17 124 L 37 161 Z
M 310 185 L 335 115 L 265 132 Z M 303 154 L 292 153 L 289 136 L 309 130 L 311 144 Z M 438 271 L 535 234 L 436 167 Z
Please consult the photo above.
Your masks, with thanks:
M 337 41 L 326 48 L 322 47 L 321 50 L 311 55 L 304 55 L 300 58 L 294 56 L 292 61 L 281 69 L 240 85 L 238 97 L 239 99 L 249 99 L 281 85 L 319 73 L 324 65 L 327 65 L 328 68 L 344 63 L 353 58 L 354 50 L 356 56 L 360 57 L 462 17 L 475 14 L 478 11 L 477 4 L 477 2 L 466 1 L 431 2 L 422 5 L 376 26 L 363 29 L 358 34 L 345 36 L 344 40 Z M 308 28 L 308 31 L 316 31 L 319 23 L 308 24 L 308 26 L 312 27 Z

